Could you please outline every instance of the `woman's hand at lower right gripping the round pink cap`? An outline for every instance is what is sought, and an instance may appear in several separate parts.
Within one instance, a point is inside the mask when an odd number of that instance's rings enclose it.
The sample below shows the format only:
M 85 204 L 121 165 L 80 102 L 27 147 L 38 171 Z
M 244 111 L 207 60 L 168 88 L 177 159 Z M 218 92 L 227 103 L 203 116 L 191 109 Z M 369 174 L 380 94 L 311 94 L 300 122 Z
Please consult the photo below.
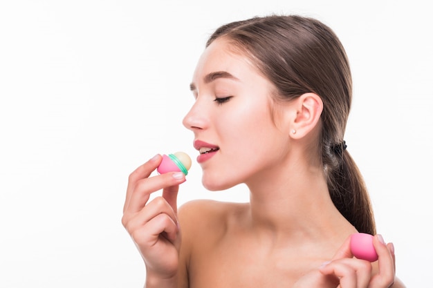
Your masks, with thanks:
M 298 280 L 293 288 L 389 288 L 395 280 L 393 244 L 385 244 L 381 236 L 374 236 L 378 253 L 378 271 L 367 260 L 353 258 L 350 237 L 338 249 L 331 261 L 311 271 Z M 376 265 L 376 264 L 374 264 Z M 403 286 L 398 286 L 403 287 Z

